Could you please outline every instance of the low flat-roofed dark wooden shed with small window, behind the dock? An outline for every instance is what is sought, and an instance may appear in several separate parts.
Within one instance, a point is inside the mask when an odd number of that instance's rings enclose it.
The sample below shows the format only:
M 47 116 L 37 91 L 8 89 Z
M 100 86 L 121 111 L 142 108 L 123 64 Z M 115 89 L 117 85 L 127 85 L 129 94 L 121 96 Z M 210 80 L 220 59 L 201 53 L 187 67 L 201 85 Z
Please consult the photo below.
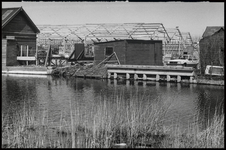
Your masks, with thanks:
M 163 65 L 161 40 L 116 40 L 94 44 L 94 64 L 112 53 L 121 65 Z

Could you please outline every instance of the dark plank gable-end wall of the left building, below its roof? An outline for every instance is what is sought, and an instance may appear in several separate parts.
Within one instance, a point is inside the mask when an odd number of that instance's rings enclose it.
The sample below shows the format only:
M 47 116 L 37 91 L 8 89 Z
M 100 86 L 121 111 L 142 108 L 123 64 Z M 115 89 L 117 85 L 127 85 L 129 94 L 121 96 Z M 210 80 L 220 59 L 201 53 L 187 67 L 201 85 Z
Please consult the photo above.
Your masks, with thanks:
M 11 36 L 15 40 L 6 40 L 7 36 Z M 5 63 L 5 66 L 22 64 L 17 61 L 17 55 L 20 52 L 21 45 L 28 45 L 28 56 L 35 56 L 36 38 L 36 33 L 32 28 L 32 24 L 27 20 L 27 16 L 22 12 L 19 12 L 4 28 L 2 28 L 2 41 L 4 41 L 2 45 L 2 63 Z M 32 61 L 31 64 L 34 63 L 35 61 Z

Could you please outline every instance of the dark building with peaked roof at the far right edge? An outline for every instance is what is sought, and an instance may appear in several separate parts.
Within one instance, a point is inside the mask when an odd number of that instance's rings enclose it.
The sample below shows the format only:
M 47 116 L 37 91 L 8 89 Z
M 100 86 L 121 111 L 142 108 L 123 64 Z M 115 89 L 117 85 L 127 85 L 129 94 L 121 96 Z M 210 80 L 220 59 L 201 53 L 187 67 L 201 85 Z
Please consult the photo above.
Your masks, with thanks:
M 224 66 L 224 27 L 207 27 L 199 41 L 199 48 L 202 74 L 207 65 Z

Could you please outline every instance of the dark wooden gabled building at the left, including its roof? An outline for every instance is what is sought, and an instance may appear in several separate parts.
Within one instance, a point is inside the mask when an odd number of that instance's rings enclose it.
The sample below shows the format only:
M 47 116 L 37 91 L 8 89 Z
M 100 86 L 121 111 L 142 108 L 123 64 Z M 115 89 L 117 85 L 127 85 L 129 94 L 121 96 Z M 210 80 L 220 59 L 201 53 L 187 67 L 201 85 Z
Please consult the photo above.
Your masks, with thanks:
M 39 32 L 22 7 L 2 8 L 2 67 L 35 64 Z

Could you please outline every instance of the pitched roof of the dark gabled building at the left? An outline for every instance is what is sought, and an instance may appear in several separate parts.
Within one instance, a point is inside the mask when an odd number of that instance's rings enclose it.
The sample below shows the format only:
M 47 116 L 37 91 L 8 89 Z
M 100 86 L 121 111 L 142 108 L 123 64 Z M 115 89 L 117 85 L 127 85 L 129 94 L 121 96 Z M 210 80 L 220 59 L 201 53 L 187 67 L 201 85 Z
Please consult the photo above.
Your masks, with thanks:
M 40 33 L 37 26 L 34 24 L 34 22 L 31 20 L 31 18 L 27 15 L 27 13 L 22 7 L 2 8 L 2 28 L 4 28 L 14 17 L 16 17 L 19 12 L 22 12 L 24 14 L 27 21 L 32 25 L 32 28 L 34 29 L 35 33 Z

